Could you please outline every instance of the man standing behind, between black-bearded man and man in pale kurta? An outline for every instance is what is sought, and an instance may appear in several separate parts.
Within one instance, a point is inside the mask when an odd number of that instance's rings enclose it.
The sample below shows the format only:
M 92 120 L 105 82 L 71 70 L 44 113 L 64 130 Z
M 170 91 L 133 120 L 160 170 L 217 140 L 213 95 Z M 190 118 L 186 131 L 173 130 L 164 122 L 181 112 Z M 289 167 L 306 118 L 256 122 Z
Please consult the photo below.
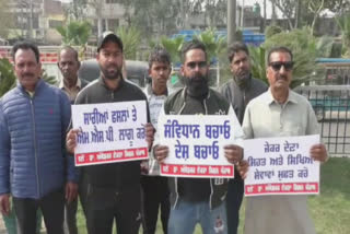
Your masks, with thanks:
M 252 77 L 249 50 L 245 44 L 232 44 L 228 54 L 233 79 L 221 86 L 220 93 L 231 103 L 242 125 L 246 105 L 250 100 L 266 92 L 267 85 Z M 226 196 L 229 234 L 237 233 L 243 194 L 244 183 L 236 173 L 235 178 L 229 182 Z

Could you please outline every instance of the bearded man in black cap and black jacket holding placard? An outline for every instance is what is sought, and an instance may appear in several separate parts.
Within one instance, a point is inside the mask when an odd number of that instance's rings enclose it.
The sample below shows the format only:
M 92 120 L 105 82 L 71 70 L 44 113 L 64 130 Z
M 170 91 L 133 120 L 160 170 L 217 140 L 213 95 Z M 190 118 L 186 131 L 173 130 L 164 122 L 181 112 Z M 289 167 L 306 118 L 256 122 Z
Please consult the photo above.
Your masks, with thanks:
M 75 104 L 147 101 L 143 92 L 122 78 L 122 42 L 112 32 L 104 33 L 97 44 L 101 77 L 82 90 Z M 67 136 L 67 149 L 73 152 L 78 130 Z M 149 147 L 153 128 L 147 126 Z M 112 234 L 114 219 L 117 233 L 137 234 L 140 214 L 140 162 L 100 164 L 84 167 L 88 178 L 86 221 L 90 234 Z

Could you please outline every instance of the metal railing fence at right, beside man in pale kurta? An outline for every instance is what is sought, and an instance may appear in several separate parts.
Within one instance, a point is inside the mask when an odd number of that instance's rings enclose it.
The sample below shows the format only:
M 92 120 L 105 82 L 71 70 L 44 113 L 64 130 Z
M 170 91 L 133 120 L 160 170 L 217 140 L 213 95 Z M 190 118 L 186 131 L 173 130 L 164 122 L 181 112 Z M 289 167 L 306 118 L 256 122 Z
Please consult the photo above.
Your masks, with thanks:
M 311 102 L 328 152 L 350 156 L 350 85 L 299 86 L 295 91 Z

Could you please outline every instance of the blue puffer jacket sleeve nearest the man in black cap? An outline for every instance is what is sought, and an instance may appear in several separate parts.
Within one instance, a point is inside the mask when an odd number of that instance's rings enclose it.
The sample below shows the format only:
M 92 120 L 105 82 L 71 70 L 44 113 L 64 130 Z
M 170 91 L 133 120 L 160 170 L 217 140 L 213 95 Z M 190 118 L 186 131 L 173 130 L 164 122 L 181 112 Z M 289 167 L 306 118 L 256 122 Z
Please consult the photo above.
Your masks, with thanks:
M 67 182 L 78 183 L 79 173 L 78 168 L 74 165 L 74 156 L 67 152 L 66 150 L 66 134 L 70 127 L 71 121 L 71 105 L 69 98 L 66 95 L 61 95 L 61 118 L 62 118 L 62 153 L 63 159 L 66 160 L 66 178 Z

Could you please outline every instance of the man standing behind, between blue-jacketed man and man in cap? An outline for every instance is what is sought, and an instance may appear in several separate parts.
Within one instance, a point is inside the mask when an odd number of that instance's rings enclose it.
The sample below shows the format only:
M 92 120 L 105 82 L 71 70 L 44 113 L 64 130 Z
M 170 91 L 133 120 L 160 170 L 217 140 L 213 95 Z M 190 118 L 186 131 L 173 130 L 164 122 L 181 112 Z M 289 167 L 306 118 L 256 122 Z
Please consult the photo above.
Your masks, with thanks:
M 84 80 L 78 78 L 78 70 L 80 68 L 80 61 L 78 58 L 78 51 L 70 46 L 63 47 L 58 57 L 57 66 L 61 71 L 63 79 L 59 84 L 59 87 L 68 95 L 70 102 L 73 104 L 78 93 L 88 84 Z M 86 186 L 83 179 L 83 171 L 80 169 L 79 178 L 79 196 L 80 201 L 85 212 L 85 189 Z M 78 186 L 78 185 L 75 185 Z M 78 234 L 77 227 L 77 209 L 78 199 L 66 200 L 65 206 L 65 233 L 66 234 Z

